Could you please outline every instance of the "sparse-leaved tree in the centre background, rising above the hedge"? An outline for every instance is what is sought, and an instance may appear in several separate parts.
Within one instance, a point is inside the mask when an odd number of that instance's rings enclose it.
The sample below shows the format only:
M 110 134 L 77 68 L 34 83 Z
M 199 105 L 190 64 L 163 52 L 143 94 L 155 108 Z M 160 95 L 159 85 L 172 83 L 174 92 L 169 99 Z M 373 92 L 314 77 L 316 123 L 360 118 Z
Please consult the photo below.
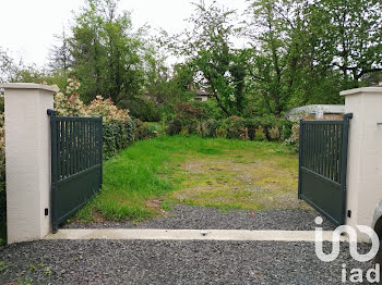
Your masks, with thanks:
M 194 3 L 195 14 L 189 18 L 193 28 L 176 36 L 176 50 L 184 55 L 195 72 L 199 86 L 207 89 L 218 107 L 227 114 L 241 114 L 244 108 L 246 70 L 240 50 L 235 50 L 230 38 L 237 34 L 231 24 L 234 11 Z

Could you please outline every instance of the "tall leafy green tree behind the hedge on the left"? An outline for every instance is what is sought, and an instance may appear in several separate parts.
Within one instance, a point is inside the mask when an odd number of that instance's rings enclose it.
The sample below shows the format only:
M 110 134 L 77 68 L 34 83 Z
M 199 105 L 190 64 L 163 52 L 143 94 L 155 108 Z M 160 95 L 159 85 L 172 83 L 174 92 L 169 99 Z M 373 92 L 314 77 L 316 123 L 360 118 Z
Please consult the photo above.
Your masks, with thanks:
M 132 33 L 129 14 L 118 13 L 117 1 L 87 0 L 72 33 L 73 74 L 85 102 L 104 95 L 122 106 L 141 92 L 144 42 Z

